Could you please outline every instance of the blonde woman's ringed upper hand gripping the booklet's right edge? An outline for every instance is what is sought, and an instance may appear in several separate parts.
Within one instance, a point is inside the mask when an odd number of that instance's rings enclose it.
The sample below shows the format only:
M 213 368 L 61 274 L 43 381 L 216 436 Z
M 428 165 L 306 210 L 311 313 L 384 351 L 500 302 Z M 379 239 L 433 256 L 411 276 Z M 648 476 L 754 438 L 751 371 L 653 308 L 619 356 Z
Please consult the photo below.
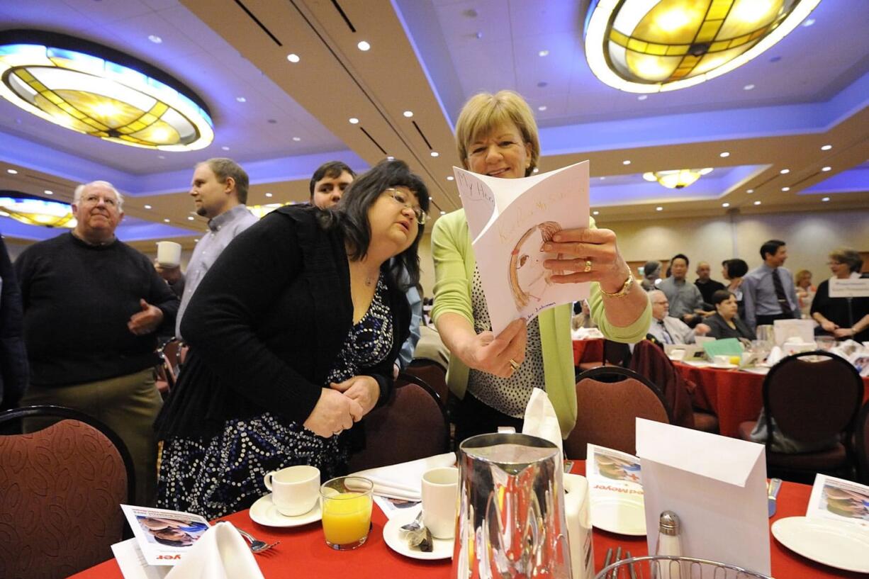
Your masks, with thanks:
M 543 265 L 556 274 L 554 283 L 599 282 L 602 289 L 615 293 L 630 275 L 615 242 L 612 230 L 561 230 L 543 247 L 562 254 L 561 259 L 547 259 Z

